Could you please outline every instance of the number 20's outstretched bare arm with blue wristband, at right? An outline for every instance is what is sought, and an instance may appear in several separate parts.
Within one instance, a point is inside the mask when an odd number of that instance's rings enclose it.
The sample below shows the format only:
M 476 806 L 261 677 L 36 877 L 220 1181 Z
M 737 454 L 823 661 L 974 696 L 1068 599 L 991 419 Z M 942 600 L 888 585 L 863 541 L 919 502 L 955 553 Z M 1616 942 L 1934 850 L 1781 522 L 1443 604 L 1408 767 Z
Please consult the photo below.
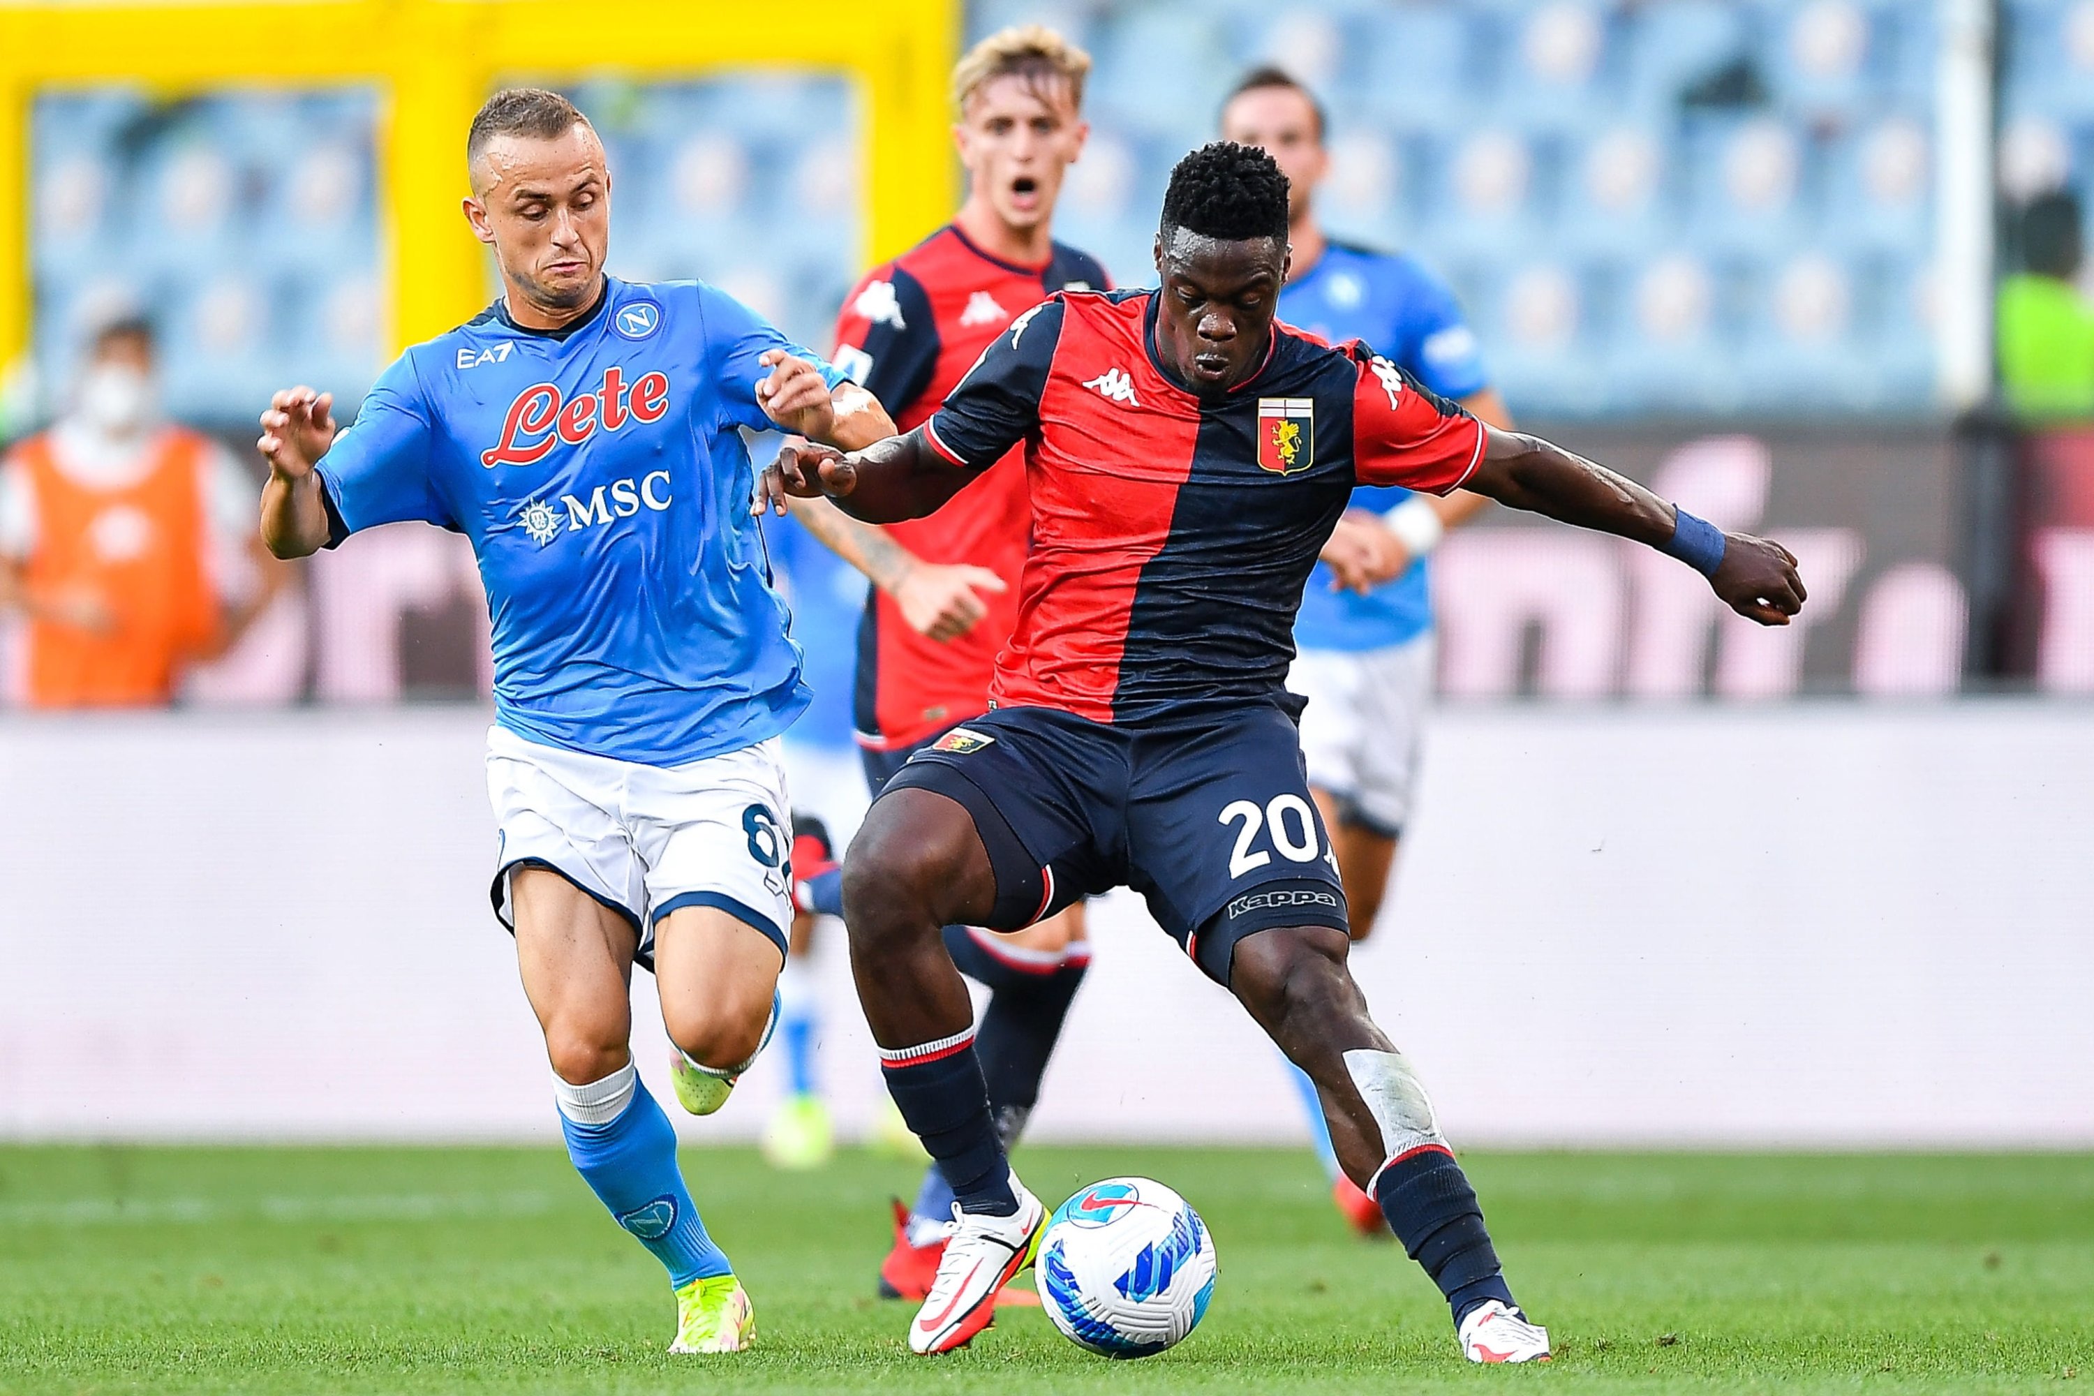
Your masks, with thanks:
M 1786 626 L 1807 599 L 1797 559 L 1778 542 L 1723 534 L 1604 465 L 1520 431 L 1485 427 L 1483 460 L 1462 481 L 1508 509 L 1619 534 L 1671 553 L 1738 615 Z

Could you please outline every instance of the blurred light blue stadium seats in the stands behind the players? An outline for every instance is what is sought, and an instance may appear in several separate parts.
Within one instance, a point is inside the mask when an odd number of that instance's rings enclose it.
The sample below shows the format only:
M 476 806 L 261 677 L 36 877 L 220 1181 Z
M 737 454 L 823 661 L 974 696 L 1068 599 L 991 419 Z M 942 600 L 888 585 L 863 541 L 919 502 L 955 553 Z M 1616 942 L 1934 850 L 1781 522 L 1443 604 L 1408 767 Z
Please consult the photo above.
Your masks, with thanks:
M 1933 393 L 1931 4 L 1901 0 L 976 0 L 1097 57 L 1060 230 L 1150 280 L 1173 161 L 1279 61 L 1332 111 L 1330 226 L 1468 301 L 1533 416 L 1924 410 Z M 2002 4 L 2002 186 L 2094 195 L 2094 0 Z M 1168 54 L 1168 82 L 1158 82 Z M 588 82 L 618 167 L 611 266 L 706 276 L 825 341 L 856 272 L 848 84 Z M 159 314 L 170 391 L 245 419 L 283 375 L 354 396 L 385 341 L 379 96 L 46 96 L 34 123 L 38 360 Z M 136 211 L 149 216 L 138 218 Z M 1801 251 L 1799 251 L 1801 249 Z M 1784 329 L 1786 327 L 1786 329 Z M 1797 331 L 1807 331 L 1797 335 Z

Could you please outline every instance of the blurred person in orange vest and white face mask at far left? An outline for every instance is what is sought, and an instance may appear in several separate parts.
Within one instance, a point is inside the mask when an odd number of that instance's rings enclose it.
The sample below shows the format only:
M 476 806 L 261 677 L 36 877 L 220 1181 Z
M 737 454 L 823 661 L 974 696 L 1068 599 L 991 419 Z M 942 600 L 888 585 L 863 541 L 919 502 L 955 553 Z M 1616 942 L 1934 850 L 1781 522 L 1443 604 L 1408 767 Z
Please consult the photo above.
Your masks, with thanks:
M 27 622 L 31 707 L 161 707 L 283 588 L 255 486 L 159 414 L 144 320 L 92 339 L 65 416 L 0 463 L 0 609 Z

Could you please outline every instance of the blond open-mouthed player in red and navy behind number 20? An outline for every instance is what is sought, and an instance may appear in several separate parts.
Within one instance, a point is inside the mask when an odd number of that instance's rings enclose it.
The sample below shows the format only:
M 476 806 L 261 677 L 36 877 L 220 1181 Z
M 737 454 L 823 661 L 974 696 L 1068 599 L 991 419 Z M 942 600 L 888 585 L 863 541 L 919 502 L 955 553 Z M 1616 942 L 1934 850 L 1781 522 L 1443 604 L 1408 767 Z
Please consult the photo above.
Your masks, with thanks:
M 993 33 L 953 69 L 967 199 L 951 224 L 867 272 L 836 327 L 838 366 L 888 404 L 903 429 L 938 410 L 1013 316 L 1053 291 L 1106 289 L 1104 266 L 1051 234 L 1062 178 L 1089 134 L 1089 54 L 1041 27 Z M 913 751 L 988 712 L 997 651 L 1018 624 L 1018 571 L 1032 527 L 1022 452 L 928 519 L 875 527 L 827 500 L 800 500 L 794 513 L 873 582 L 859 628 L 856 726 L 877 795 Z M 810 883 L 831 915 L 842 913 L 838 881 Z M 980 1053 L 1009 1145 L 1039 1099 L 1091 961 L 1083 904 L 1016 936 L 951 925 L 944 940 L 961 971 L 990 990 Z M 806 1003 L 787 969 L 787 1003 L 796 1000 Z M 882 1291 L 923 1298 L 951 1224 L 953 1193 L 932 1168 L 915 1208 L 896 1216 Z

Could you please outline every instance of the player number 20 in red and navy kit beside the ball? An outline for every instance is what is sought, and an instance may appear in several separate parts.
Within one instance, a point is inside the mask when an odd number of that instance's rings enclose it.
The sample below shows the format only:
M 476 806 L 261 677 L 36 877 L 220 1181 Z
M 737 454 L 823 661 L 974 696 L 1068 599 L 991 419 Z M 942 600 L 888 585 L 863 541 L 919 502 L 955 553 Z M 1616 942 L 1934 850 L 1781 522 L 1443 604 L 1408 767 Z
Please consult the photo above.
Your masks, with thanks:
M 988 1325 L 1047 1210 L 1011 1172 L 940 927 L 1020 927 L 1137 887 L 1185 954 L 1315 1078 L 1346 1174 L 1447 1298 L 1474 1363 L 1550 1356 L 1476 1191 L 1349 967 L 1346 904 L 1286 693 L 1294 613 L 1359 483 L 1468 486 L 1663 548 L 1788 624 L 1795 557 L 1547 442 L 1497 431 L 1390 360 L 1275 324 L 1288 182 L 1217 142 L 1171 172 L 1158 291 L 1062 293 L 997 337 L 915 431 L 787 446 L 764 496 L 921 517 L 1024 444 L 1018 630 L 995 710 L 917 751 L 850 846 L 850 963 L 882 1074 L 959 1199 L 913 1352 Z M 1516 866 L 1518 850 L 1501 850 Z M 1145 1063 L 1129 1061 L 1139 1080 Z M 1049 1270 L 1043 1283 L 1053 1285 Z

